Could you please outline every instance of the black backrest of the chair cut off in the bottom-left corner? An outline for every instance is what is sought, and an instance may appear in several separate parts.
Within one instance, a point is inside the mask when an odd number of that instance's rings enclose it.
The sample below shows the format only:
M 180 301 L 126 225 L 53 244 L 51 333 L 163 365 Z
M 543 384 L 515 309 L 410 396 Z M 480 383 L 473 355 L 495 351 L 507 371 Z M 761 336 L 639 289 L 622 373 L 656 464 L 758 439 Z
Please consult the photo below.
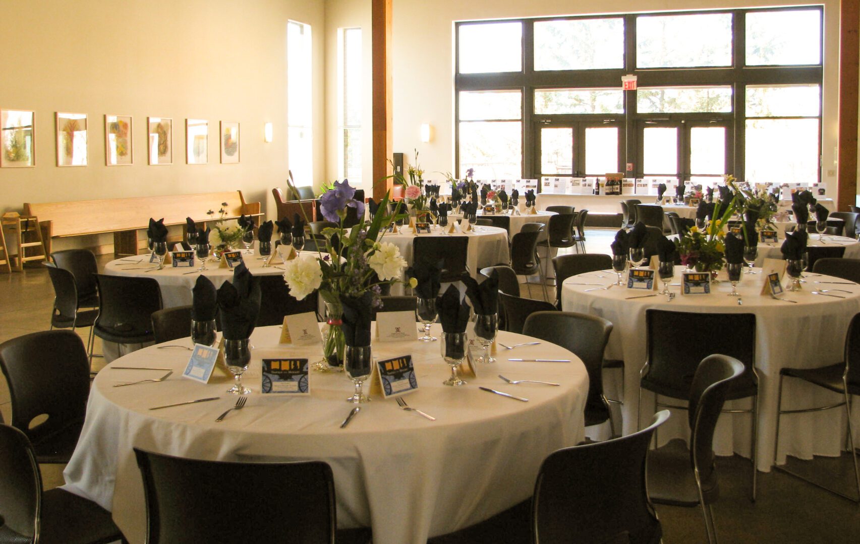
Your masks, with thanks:
M 39 534 L 42 479 L 33 446 L 22 431 L 0 424 L 0 535 L 34 542 Z M 4 532 L 14 531 L 16 535 Z M 21 536 L 15 540 L 14 536 Z

